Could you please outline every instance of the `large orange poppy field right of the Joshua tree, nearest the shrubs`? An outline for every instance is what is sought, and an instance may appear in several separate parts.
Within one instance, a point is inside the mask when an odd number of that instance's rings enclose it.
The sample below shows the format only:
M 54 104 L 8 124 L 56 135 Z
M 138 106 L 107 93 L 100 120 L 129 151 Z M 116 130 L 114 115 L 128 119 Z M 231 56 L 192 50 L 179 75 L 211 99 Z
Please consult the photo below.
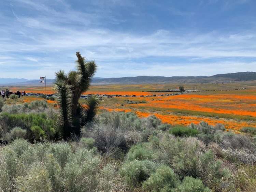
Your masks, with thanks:
M 101 109 L 135 112 L 139 117 L 155 115 L 173 125 L 222 123 L 240 133 L 243 127 L 256 128 L 256 94 L 253 90 L 192 92 L 163 97 L 103 98 Z

